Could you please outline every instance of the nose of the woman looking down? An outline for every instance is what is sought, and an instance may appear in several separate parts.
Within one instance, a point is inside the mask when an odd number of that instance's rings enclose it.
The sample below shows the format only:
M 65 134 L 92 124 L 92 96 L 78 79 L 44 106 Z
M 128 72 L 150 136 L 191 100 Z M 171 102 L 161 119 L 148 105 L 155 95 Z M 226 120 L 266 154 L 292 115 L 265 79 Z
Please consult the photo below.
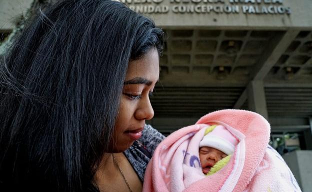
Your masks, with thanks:
M 154 110 L 151 107 L 149 97 L 140 100 L 138 109 L 135 113 L 135 118 L 138 120 L 149 120 L 154 116 Z

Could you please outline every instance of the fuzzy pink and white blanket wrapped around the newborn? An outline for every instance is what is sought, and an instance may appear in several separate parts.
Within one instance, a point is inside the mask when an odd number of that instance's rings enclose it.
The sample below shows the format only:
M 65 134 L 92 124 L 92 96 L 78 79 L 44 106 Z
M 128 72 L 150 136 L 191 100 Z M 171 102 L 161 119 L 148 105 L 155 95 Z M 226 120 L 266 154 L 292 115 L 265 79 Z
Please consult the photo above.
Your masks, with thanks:
M 209 125 L 224 126 L 239 143 L 226 166 L 205 176 L 198 145 Z M 268 122 L 256 113 L 209 113 L 159 144 L 146 168 L 143 192 L 301 192 L 281 156 L 268 145 L 269 133 Z

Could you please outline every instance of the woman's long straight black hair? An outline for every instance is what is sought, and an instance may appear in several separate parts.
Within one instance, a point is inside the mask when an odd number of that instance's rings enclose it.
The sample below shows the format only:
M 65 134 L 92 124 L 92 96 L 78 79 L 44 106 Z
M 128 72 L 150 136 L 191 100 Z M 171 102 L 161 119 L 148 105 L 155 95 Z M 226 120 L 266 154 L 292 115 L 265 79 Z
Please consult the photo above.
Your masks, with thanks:
M 97 191 L 128 62 L 162 43 L 117 1 L 38 10 L 0 62 L 0 191 Z

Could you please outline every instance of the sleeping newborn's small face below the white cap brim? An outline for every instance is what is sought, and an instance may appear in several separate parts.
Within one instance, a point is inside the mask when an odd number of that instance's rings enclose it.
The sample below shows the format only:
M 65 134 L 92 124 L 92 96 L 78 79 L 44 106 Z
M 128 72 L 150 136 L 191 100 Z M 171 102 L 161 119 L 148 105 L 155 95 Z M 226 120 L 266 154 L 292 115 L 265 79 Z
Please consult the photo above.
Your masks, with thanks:
M 216 162 L 226 156 L 227 155 L 225 153 L 211 147 L 199 148 L 199 159 L 202 173 L 207 174 Z

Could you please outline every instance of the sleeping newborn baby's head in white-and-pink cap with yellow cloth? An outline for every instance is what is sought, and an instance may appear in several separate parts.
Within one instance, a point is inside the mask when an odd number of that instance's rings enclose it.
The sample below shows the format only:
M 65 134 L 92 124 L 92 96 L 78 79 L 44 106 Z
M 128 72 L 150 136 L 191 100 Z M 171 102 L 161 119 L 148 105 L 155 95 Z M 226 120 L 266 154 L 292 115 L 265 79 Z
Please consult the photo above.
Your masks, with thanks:
M 208 127 L 199 143 L 202 173 L 212 175 L 224 167 L 234 153 L 238 140 L 223 126 Z M 217 164 L 217 165 L 216 165 Z

